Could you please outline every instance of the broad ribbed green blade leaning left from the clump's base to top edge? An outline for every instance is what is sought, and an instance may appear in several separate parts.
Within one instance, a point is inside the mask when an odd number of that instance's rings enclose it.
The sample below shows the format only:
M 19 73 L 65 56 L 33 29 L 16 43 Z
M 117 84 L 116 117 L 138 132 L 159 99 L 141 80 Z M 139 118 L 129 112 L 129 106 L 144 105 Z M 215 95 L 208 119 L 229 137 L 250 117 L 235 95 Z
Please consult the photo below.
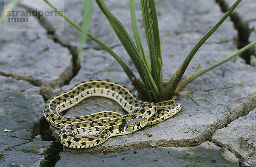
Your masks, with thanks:
M 157 85 L 155 84 L 151 74 L 149 73 L 145 62 L 140 55 L 139 50 L 136 48 L 134 42 L 132 41 L 130 35 L 128 34 L 122 23 L 113 16 L 111 11 L 109 11 L 103 0 L 96 0 L 96 3 L 105 14 L 105 17 L 108 19 L 117 37 L 119 38 L 120 42 L 130 56 L 131 61 L 134 63 L 134 66 L 140 74 L 140 77 L 143 80 L 143 83 L 145 84 L 149 95 L 151 96 L 151 100 L 157 101 L 160 95 Z

